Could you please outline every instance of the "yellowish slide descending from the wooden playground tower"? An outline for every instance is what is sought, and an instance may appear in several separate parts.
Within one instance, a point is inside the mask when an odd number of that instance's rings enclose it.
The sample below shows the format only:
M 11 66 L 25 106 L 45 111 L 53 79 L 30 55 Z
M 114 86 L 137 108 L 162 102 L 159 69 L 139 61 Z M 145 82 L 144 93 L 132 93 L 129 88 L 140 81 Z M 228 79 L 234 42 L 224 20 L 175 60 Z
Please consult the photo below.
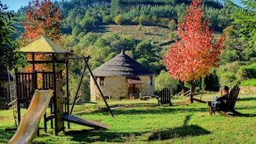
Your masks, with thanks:
M 30 143 L 52 97 L 52 90 L 35 90 L 29 108 L 9 143 Z

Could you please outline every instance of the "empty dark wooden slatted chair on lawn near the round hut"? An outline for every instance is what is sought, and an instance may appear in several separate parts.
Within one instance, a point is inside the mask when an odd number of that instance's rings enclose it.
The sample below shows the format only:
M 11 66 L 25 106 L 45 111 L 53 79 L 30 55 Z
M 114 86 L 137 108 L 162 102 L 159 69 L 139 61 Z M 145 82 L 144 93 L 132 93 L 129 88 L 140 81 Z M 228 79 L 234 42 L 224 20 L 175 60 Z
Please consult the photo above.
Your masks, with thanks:
M 153 97 L 156 97 L 159 106 L 162 104 L 169 104 L 170 106 L 172 105 L 171 97 L 173 97 L 173 95 L 171 95 L 171 90 L 169 90 L 167 87 L 160 91 L 159 96 L 154 95 Z

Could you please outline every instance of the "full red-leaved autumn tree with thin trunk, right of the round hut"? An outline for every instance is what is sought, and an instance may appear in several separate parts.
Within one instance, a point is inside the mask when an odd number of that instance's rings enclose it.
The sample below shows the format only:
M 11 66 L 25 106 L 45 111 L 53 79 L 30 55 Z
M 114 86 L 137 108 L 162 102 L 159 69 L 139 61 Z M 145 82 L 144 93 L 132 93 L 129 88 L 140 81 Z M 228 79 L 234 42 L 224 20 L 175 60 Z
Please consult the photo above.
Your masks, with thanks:
M 185 22 L 178 24 L 177 35 L 180 40 L 171 44 L 163 63 L 171 77 L 190 82 L 192 92 L 194 80 L 209 75 L 210 68 L 217 67 L 218 56 L 224 49 L 224 34 L 214 42 L 213 30 L 207 27 L 208 20 L 202 20 L 201 0 L 193 0 L 191 5 L 186 7 L 186 12 Z

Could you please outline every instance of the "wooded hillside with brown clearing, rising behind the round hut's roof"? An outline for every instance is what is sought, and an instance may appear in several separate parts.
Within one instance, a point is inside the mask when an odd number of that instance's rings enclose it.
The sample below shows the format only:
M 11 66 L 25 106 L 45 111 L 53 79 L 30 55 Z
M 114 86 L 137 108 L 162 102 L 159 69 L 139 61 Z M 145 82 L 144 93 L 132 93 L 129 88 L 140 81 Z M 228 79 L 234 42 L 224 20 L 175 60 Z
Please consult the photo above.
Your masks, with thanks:
M 176 25 L 178 21 L 184 21 L 186 6 L 190 3 L 190 0 L 54 2 L 64 17 L 62 45 L 67 49 L 73 49 L 77 54 L 90 54 L 91 51 L 96 54 L 95 50 L 103 53 L 93 55 L 93 68 L 118 54 L 120 49 L 125 49 L 131 51 L 133 58 L 156 72 L 164 69 L 161 62 L 163 54 L 176 39 Z M 231 23 L 229 14 L 232 13 L 232 9 L 210 0 L 202 0 L 202 5 L 204 17 L 208 17 L 208 25 L 214 31 L 222 32 L 222 29 Z M 21 21 L 26 20 L 26 9 L 25 6 L 17 11 L 19 22 L 16 24 L 18 32 L 15 37 L 24 32 Z M 124 27 L 129 25 L 133 27 Z M 104 36 L 105 34 L 108 34 L 108 37 Z M 146 47 L 146 50 L 143 47 Z

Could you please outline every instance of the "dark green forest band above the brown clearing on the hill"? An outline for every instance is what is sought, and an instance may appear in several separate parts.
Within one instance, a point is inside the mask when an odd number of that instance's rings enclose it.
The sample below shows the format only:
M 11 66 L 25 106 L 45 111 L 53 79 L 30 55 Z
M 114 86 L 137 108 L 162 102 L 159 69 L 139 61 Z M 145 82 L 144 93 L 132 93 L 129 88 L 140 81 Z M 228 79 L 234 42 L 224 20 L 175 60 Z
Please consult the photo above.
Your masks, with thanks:
M 90 25 L 103 24 L 143 24 L 163 27 L 176 27 L 178 21 L 184 21 L 185 9 L 191 0 L 72 0 L 54 2 L 65 17 L 63 33 L 71 34 L 75 28 L 90 31 Z M 215 0 L 202 0 L 204 15 L 209 19 L 209 27 L 215 31 L 230 24 L 228 14 L 232 10 Z M 25 19 L 27 6 L 19 9 L 17 14 Z M 22 16 L 23 15 L 23 16 Z M 174 20 L 175 24 L 169 24 Z M 78 24 L 80 23 L 80 24 Z M 85 24 L 92 23 L 92 24 Z M 77 27 L 79 26 L 80 27 Z M 22 25 L 19 26 L 22 32 Z

